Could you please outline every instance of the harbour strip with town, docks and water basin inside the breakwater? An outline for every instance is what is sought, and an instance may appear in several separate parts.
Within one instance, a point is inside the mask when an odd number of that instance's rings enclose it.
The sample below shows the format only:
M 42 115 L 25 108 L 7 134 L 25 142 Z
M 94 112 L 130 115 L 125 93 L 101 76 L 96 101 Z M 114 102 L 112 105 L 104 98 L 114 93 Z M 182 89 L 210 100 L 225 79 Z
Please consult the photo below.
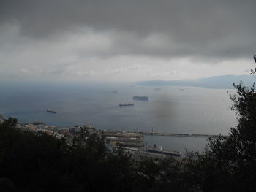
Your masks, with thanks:
M 31 131 L 43 131 L 54 134 L 58 138 L 66 138 L 72 143 L 74 137 L 86 131 L 87 134 L 97 133 L 105 138 L 106 145 L 115 149 L 123 147 L 127 153 L 135 156 L 148 157 L 186 157 L 189 151 L 203 152 L 208 137 L 217 137 L 210 134 L 177 134 L 143 131 L 100 130 L 90 125 L 51 126 L 42 121 L 33 123 L 18 123 L 19 128 Z M 154 147 L 155 146 L 155 147 Z

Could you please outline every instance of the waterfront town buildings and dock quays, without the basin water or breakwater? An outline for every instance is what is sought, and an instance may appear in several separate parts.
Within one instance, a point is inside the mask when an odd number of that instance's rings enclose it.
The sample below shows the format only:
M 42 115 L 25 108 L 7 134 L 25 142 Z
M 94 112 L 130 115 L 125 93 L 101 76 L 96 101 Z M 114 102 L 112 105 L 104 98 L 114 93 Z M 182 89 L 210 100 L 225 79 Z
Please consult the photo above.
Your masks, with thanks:
M 0 115 L 0 123 L 3 122 L 4 117 Z M 105 144 L 110 150 L 122 148 L 126 153 L 135 157 L 176 158 L 177 161 L 182 161 L 181 152 L 164 150 L 156 145 L 147 146 L 147 143 L 144 143 L 144 134 L 141 132 L 97 130 L 90 125 L 68 126 L 67 128 L 59 127 L 50 126 L 41 121 L 17 123 L 17 128 L 35 132 L 42 131 L 58 139 L 65 139 L 70 145 L 73 139 L 80 134 L 86 134 L 86 137 L 89 137 L 91 134 L 99 134 L 100 137 L 105 139 Z

